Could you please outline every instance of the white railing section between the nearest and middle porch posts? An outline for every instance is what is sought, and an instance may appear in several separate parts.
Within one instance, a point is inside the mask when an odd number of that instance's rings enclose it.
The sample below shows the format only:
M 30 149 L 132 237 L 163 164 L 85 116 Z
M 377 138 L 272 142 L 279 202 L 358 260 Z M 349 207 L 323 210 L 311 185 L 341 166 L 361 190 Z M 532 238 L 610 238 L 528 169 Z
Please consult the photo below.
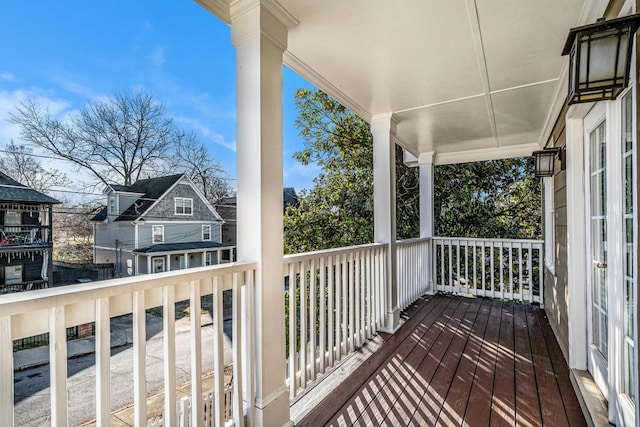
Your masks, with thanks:
M 384 244 L 285 256 L 291 399 L 383 324 L 387 256 Z

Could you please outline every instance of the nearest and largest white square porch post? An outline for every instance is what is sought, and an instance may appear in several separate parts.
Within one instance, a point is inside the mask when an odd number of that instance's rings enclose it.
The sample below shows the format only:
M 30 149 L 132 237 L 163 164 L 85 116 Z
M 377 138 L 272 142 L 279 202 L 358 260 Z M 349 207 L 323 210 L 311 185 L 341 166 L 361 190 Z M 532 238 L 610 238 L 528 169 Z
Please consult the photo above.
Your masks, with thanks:
M 282 55 L 296 21 L 276 2 L 230 5 L 236 47 L 239 261 L 258 264 L 255 282 L 255 420 L 290 425 L 285 380 L 282 223 Z M 278 327 L 279 325 L 279 327 Z

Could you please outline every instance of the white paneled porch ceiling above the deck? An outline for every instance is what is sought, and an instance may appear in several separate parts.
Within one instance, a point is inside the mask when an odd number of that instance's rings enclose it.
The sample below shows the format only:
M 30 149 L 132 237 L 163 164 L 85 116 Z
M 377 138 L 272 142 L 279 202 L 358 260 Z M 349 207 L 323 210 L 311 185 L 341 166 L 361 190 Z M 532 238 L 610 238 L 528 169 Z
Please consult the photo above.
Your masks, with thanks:
M 197 0 L 229 22 L 228 0 Z M 263 0 L 264 1 L 264 0 Z M 297 21 L 285 63 L 436 163 L 530 155 L 566 97 L 569 28 L 607 1 L 270 0 Z M 281 8 L 279 7 L 281 6 Z

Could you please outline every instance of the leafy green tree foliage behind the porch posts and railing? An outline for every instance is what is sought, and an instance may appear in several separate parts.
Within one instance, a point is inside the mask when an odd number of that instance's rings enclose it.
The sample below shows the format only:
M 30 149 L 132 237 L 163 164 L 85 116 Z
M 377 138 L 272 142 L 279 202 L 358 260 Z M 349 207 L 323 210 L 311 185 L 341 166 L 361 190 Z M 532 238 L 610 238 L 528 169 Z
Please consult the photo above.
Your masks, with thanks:
M 294 158 L 317 164 L 314 187 L 285 213 L 285 252 L 373 241 L 373 137 L 369 125 L 320 90 L 297 90 L 296 126 L 305 147 Z M 417 168 L 396 151 L 397 238 L 419 235 Z M 536 238 L 540 182 L 530 159 L 435 168 L 435 231 L 440 236 Z

